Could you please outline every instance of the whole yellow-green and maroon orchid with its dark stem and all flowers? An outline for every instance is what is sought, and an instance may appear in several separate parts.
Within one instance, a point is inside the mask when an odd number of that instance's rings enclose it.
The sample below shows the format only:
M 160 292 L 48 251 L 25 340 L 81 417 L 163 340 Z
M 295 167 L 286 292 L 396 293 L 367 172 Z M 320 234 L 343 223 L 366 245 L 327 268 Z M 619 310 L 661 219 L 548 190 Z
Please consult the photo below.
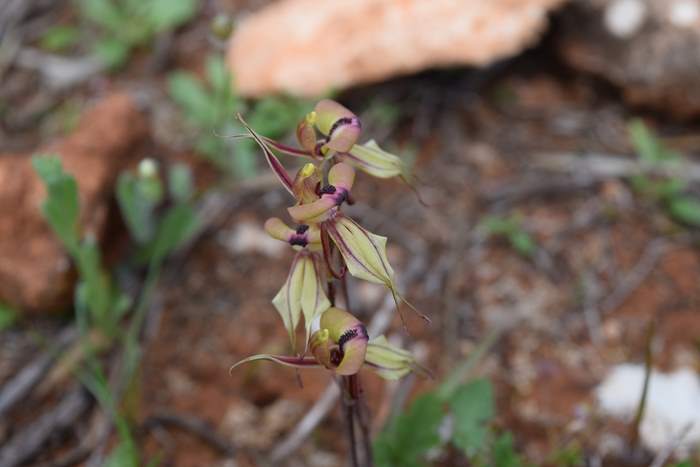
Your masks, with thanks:
M 409 352 L 391 345 L 384 336 L 370 338 L 360 320 L 335 306 L 339 287 L 344 291 L 345 306 L 348 306 L 347 273 L 385 286 L 397 309 L 399 302 L 406 302 L 397 290 L 394 270 L 387 258 L 387 238 L 363 228 L 343 213 L 342 207 L 354 202 L 352 188 L 356 168 L 380 178 L 398 176 L 404 179 L 405 169 L 399 157 L 383 151 L 374 141 L 358 144 L 360 120 L 330 100 L 319 102 L 299 123 L 296 134 L 300 148 L 261 136 L 242 118 L 240 120 L 294 199 L 287 209 L 294 224 L 288 225 L 275 217 L 267 220 L 265 231 L 288 243 L 296 254 L 285 283 L 272 300 L 289 334 L 291 354 L 254 355 L 232 369 L 247 362 L 269 360 L 294 368 L 329 371 L 345 388 L 353 463 L 358 465 L 354 441 L 357 421 L 363 434 L 363 458 L 369 464 L 368 424 L 356 404 L 361 395 L 358 379 L 361 368 L 367 367 L 390 380 L 412 371 L 429 373 Z M 275 151 L 306 158 L 309 162 L 292 177 Z M 419 315 L 428 320 L 425 315 Z M 303 346 L 297 343 L 302 317 Z

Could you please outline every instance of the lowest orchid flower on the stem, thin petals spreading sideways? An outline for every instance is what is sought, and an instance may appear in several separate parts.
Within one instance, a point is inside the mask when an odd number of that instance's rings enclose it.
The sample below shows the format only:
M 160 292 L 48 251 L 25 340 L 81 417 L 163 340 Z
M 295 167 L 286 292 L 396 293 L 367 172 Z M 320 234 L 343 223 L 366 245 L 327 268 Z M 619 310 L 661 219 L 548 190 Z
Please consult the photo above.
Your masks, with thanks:
M 411 371 L 430 375 L 410 352 L 389 344 L 384 336 L 369 339 L 365 325 L 345 310 L 330 307 L 315 323 L 311 355 L 258 354 L 236 363 L 231 371 L 244 363 L 269 360 L 293 368 L 326 368 L 339 376 L 355 375 L 365 365 L 389 380 Z

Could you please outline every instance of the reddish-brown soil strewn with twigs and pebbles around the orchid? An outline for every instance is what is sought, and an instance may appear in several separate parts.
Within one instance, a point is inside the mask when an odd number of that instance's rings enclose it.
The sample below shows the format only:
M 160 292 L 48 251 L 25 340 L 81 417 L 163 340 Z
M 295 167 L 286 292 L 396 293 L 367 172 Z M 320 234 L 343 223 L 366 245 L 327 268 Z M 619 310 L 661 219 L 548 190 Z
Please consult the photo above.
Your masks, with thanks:
M 196 57 L 207 44 L 197 28 L 204 23 L 176 39 L 176 67 L 201 67 Z M 187 37 L 195 44 L 185 44 Z M 543 170 L 539 161 L 548 154 L 629 155 L 626 125 L 637 115 L 692 159 L 696 151 L 682 137 L 698 128 L 627 108 L 616 89 L 560 65 L 550 40 L 489 70 L 430 72 L 340 96 L 369 117 L 366 135 L 415 155 L 427 205 L 401 182 L 363 175 L 356 182 L 358 202 L 348 212 L 389 237 L 399 277 L 409 266 L 416 269 L 403 284 L 405 295 L 432 319 L 426 326 L 405 309 L 410 335 L 396 314 L 388 334 L 436 375 L 397 386 L 367 373 L 362 382 L 370 410 L 386 419 L 397 393 L 434 387 L 497 330 L 477 374 L 494 381 L 497 424 L 514 433 L 531 462 L 549 465 L 553 452 L 575 442 L 587 459 L 603 465 L 648 465 L 648 455 L 640 460 L 627 454 L 628 427 L 597 413 L 593 389 L 611 366 L 643 362 L 651 322 L 656 367 L 699 368 L 696 232 L 671 222 L 624 179 L 591 181 L 586 174 Z M 162 89 L 163 77 L 151 76 L 147 85 Z M 109 86 L 142 79 L 137 60 Z M 72 98 L 97 93 L 82 89 Z M 372 121 L 376 102 L 398 109 L 394 127 Z M 22 147 L 27 138 L 23 133 L 12 143 Z M 193 161 L 159 138 L 152 149 L 164 161 Z M 209 169 L 198 173 L 202 180 L 214 177 Z M 261 227 L 284 212 L 289 200 L 281 189 L 265 185 L 227 197 L 233 207 L 216 228 L 167 266 L 134 417 L 196 416 L 238 452 L 234 462 L 190 433 L 166 426 L 144 430 L 140 442 L 146 453 L 162 455 L 162 465 L 258 465 L 331 382 L 323 371 L 308 371 L 301 374 L 302 386 L 294 371 L 267 363 L 229 373 L 248 355 L 286 350 L 270 299 L 292 253 L 231 247 L 241 225 Z M 486 216 L 511 214 L 537 244 L 531 257 L 480 233 Z M 354 311 L 370 317 L 382 301 L 381 289 L 353 283 L 351 290 Z M 0 381 L 41 347 L 32 337 L 37 330 L 49 333 L 59 324 L 44 318 L 3 332 Z M 18 425 L 30 418 L 34 402 L 14 413 Z M 284 465 L 345 465 L 344 429 L 340 412 L 332 411 Z M 0 426 L 0 439 L 8 430 Z M 57 438 L 47 452 L 74 444 L 84 430 Z M 451 465 L 449 456 L 442 461 Z

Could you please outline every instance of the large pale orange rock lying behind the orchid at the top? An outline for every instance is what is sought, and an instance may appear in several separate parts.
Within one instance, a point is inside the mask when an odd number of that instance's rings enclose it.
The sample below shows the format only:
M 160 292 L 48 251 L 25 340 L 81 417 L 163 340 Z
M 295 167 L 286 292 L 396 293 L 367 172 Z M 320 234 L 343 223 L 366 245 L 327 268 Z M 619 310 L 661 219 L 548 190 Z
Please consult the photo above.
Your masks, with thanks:
M 241 94 L 314 96 L 517 54 L 564 1 L 281 0 L 237 28 L 228 61 Z

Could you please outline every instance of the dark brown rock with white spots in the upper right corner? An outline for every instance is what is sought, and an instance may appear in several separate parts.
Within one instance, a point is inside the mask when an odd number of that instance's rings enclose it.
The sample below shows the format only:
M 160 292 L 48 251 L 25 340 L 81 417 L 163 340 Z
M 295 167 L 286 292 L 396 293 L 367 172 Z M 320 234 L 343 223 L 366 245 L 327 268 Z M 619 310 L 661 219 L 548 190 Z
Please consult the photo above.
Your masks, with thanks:
M 632 105 L 700 115 L 700 1 L 588 0 L 561 16 L 570 66 L 618 86 Z

